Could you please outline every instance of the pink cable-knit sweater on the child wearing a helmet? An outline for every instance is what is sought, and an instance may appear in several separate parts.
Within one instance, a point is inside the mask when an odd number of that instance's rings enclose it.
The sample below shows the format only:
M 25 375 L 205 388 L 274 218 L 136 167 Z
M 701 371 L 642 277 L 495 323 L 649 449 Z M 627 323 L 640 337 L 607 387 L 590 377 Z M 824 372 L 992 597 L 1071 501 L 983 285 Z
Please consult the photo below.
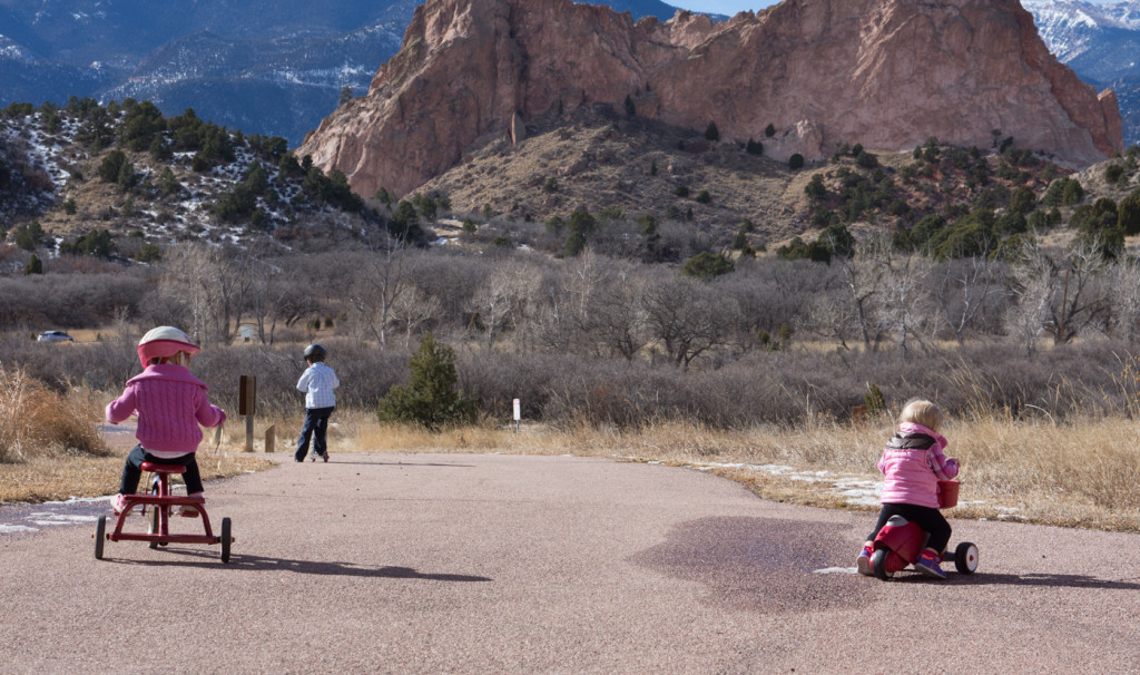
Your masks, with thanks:
M 122 396 L 107 405 L 107 422 L 119 424 L 138 410 L 135 437 L 157 456 L 174 457 L 198 449 L 202 426 L 218 426 L 226 413 L 206 400 L 210 389 L 174 364 L 148 366 L 127 381 Z

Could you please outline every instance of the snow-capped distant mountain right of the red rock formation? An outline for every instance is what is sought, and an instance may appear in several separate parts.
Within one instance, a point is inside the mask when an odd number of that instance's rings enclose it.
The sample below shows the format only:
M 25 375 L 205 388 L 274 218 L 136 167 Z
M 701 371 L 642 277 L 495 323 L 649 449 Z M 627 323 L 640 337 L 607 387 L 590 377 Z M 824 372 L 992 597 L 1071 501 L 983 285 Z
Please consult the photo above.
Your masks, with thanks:
M 1140 143 L 1140 1 L 1026 1 L 1058 60 L 1098 89 L 1116 92 L 1125 145 Z

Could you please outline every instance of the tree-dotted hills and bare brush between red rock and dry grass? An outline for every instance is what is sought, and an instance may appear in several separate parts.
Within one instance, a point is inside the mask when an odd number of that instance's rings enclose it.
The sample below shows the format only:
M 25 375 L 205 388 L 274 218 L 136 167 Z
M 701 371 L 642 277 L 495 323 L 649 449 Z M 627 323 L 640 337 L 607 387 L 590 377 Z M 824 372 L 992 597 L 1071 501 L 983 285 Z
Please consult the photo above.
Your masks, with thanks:
M 132 341 L 174 324 L 223 401 L 255 368 L 268 409 L 295 402 L 301 342 L 375 409 L 430 333 L 489 418 L 521 398 L 554 424 L 739 428 L 874 392 L 1134 412 L 1135 148 L 1081 173 L 1003 138 L 793 169 L 600 109 L 365 197 L 279 139 L 73 103 L 10 107 L 2 136 L 0 341 L 55 387 L 120 387 Z

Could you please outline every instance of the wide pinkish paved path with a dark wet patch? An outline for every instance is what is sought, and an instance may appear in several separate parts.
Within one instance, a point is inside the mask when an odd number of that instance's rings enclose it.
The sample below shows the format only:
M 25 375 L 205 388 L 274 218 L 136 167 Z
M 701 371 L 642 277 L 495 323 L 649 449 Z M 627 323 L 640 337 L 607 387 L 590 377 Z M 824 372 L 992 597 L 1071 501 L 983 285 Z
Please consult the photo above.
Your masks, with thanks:
M 881 583 L 844 571 L 871 514 L 660 465 L 336 455 L 206 495 L 230 564 L 130 542 L 96 561 L 90 526 L 0 536 L 0 672 L 1140 668 L 1131 535 L 960 521 L 977 575 Z

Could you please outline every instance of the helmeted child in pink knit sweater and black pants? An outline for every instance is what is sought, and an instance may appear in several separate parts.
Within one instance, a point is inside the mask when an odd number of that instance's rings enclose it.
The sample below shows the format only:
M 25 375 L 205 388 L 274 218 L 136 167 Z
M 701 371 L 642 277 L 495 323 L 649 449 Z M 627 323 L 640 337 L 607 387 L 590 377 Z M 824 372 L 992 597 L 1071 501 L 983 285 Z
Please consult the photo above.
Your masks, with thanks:
M 123 495 L 133 495 L 142 475 L 142 462 L 184 464 L 186 493 L 202 496 L 202 477 L 194 453 L 202 442 L 202 429 L 218 426 L 226 413 L 206 400 L 209 388 L 190 374 L 190 357 L 198 345 L 186 333 L 171 326 L 160 326 L 139 341 L 139 363 L 145 368 L 131 377 L 122 396 L 107 406 L 107 422 L 119 424 L 138 413 L 139 445 L 127 456 L 119 494 L 112 497 L 116 514 L 125 506 Z M 182 506 L 182 515 L 196 517 L 197 510 Z

